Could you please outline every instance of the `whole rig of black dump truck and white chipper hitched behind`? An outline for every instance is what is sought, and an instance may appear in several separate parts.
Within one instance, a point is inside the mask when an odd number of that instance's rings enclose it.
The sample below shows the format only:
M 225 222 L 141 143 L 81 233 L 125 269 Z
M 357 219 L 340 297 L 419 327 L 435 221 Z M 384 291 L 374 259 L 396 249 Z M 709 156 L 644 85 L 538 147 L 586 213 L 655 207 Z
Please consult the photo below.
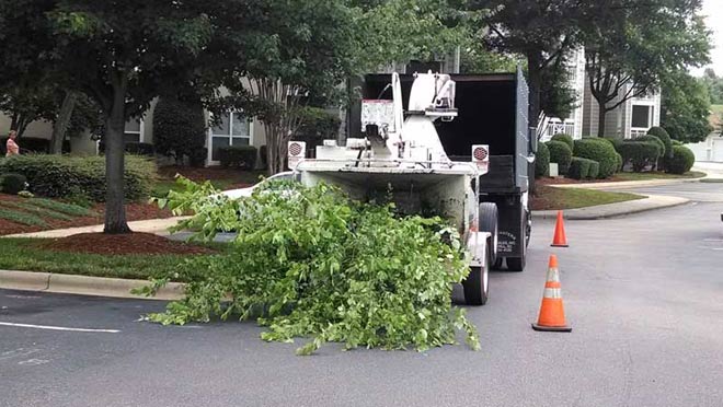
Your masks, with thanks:
M 402 213 L 448 220 L 469 253 L 466 302 L 483 305 L 492 268 L 525 267 L 535 147 L 521 72 L 371 74 L 363 95 L 351 120 L 357 137 L 324 140 L 313 159 L 291 141 L 289 167 L 307 186 L 324 182 L 353 199 L 387 197 Z

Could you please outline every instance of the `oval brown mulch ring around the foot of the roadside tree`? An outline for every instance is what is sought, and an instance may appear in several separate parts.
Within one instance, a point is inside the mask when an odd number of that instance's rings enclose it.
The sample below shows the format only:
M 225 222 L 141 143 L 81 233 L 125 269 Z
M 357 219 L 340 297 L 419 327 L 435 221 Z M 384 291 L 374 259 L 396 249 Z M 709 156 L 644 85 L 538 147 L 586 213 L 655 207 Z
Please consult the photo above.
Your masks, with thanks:
M 80 233 L 68 237 L 41 242 L 43 249 L 69 253 L 92 253 L 102 255 L 124 254 L 211 254 L 210 248 L 170 241 L 151 233 Z

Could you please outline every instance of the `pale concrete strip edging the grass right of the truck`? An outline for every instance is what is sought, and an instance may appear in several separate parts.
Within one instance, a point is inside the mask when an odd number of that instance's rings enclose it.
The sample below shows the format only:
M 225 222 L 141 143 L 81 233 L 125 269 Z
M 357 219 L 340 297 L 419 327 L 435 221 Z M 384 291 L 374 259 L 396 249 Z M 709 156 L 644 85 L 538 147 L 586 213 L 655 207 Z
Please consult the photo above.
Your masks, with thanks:
M 596 220 L 646 212 L 655 209 L 672 208 L 688 202 L 690 202 L 690 199 L 651 195 L 644 199 L 597 205 L 587 208 L 566 209 L 563 212 L 564 218 L 569 220 Z M 532 211 L 532 219 L 555 219 L 556 217 L 556 210 Z

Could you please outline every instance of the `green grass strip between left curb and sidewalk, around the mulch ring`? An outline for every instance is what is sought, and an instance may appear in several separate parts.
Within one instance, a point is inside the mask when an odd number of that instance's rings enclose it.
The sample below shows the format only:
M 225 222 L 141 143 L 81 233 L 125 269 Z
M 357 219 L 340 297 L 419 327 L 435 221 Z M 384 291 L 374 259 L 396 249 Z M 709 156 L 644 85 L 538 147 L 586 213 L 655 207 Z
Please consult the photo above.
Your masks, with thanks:
M 97 255 L 51 252 L 38 247 L 38 239 L 0 239 L 0 269 L 57 272 L 94 277 L 147 279 L 173 271 L 188 256 Z M 223 253 L 227 244 L 213 244 Z

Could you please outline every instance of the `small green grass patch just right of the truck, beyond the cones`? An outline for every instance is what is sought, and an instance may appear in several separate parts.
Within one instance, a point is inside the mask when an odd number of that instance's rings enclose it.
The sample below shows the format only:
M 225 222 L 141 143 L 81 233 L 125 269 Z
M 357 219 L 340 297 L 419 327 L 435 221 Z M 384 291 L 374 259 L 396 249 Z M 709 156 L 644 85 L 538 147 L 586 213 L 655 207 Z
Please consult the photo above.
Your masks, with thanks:
M 574 209 L 643 198 L 645 197 L 636 194 L 540 185 L 537 188 L 537 196 L 532 197 L 531 206 L 532 210 Z

